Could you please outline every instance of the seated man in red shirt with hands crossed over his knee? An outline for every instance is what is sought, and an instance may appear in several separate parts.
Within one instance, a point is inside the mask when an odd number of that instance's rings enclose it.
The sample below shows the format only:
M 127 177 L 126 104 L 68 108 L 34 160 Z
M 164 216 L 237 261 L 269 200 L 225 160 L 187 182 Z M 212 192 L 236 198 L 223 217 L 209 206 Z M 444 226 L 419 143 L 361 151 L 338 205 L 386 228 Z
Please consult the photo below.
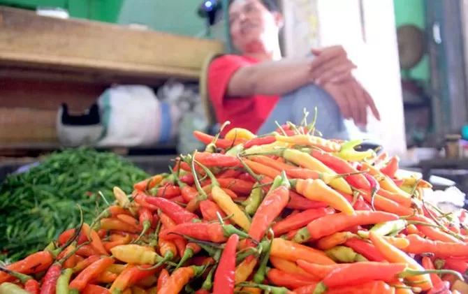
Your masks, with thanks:
M 218 122 L 268 133 L 275 121 L 298 124 L 303 109 L 319 110 L 316 128 L 328 138 L 349 137 L 367 124 L 374 101 L 351 71 L 356 66 L 341 46 L 311 50 L 311 56 L 281 59 L 283 17 L 272 0 L 234 0 L 229 6 L 231 39 L 241 55 L 212 61 L 208 94 Z

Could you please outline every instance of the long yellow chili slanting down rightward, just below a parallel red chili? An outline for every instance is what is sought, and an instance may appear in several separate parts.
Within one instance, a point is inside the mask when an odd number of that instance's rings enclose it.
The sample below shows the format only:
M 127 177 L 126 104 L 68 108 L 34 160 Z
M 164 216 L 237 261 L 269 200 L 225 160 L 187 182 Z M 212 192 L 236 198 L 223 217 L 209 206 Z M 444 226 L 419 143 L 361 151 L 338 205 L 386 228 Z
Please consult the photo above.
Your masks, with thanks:
M 300 150 L 285 149 L 282 155 L 287 161 L 291 161 L 292 163 L 295 163 L 298 166 L 302 166 L 303 168 L 309 168 L 310 170 L 315 170 L 318 172 L 326 172 L 328 175 L 337 175 L 334 170 L 328 168 L 328 166 L 323 164 L 321 161 Z M 346 180 L 342 177 L 332 179 L 330 181 L 330 186 L 344 193 L 353 193 L 351 186 L 349 186 Z

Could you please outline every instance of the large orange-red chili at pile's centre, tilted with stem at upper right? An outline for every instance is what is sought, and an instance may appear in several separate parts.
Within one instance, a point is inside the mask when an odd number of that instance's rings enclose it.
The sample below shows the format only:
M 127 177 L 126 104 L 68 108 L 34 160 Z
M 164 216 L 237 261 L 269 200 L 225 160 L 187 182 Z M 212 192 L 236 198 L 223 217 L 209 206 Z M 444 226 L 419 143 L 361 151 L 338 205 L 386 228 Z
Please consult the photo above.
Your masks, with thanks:
M 268 193 L 258 207 L 254 217 L 252 218 L 249 235 L 252 239 L 260 241 L 268 230 L 268 226 L 274 221 L 277 216 L 284 210 L 288 204 L 289 189 L 288 179 L 284 178 L 284 183 L 277 189 Z

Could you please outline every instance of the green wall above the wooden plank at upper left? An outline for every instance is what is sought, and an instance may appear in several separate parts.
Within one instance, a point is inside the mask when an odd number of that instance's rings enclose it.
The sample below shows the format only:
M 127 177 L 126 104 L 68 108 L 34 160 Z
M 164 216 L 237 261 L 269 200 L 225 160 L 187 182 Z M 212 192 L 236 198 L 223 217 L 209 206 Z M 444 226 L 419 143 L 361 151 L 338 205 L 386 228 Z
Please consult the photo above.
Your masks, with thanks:
M 145 24 L 173 34 L 203 34 L 198 0 L 0 0 L 0 5 L 35 10 L 38 6 L 66 8 L 71 17 L 118 24 Z

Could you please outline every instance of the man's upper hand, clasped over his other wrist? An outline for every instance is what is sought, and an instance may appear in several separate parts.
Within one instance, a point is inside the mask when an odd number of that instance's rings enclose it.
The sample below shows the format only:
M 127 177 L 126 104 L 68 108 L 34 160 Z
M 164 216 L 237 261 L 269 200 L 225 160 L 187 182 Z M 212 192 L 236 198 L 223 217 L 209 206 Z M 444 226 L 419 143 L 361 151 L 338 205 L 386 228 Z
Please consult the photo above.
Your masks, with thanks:
M 310 78 L 314 84 L 344 82 L 352 78 L 351 71 L 356 68 L 342 46 L 313 49 L 316 56 L 310 66 Z

